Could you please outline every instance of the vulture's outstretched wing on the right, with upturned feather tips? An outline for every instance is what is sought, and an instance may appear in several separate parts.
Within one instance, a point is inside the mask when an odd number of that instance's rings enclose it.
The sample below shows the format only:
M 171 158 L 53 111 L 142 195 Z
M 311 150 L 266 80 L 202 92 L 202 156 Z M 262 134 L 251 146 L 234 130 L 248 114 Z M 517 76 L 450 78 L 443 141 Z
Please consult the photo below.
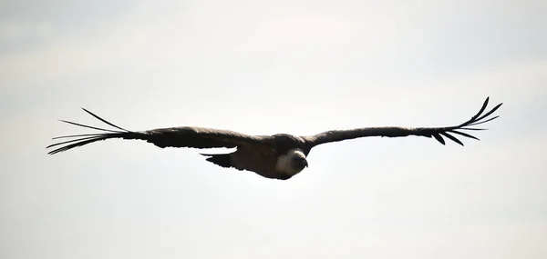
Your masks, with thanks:
M 456 138 L 455 135 L 465 136 L 469 138 L 474 138 L 476 140 L 479 140 L 479 138 L 467 134 L 464 131 L 476 131 L 476 130 L 484 130 L 482 128 L 476 128 L 476 125 L 481 125 L 487 122 L 490 122 L 491 120 L 499 117 L 499 116 L 493 116 L 490 117 L 498 108 L 500 108 L 500 105 L 494 106 L 489 112 L 486 114 L 483 114 L 488 102 L 489 98 L 487 97 L 484 101 L 484 104 L 480 108 L 479 113 L 477 115 L 474 115 L 471 117 L 471 119 L 463 124 L 456 125 L 456 126 L 449 126 L 449 127 L 418 127 L 418 128 L 405 128 L 405 127 L 366 127 L 366 128 L 357 128 L 357 129 L 351 129 L 351 130 L 333 130 L 333 131 L 327 131 L 320 134 L 310 135 L 310 136 L 304 136 L 304 140 L 309 144 L 310 148 L 314 147 L 317 144 L 325 144 L 329 142 L 336 142 L 336 141 L 343 141 L 346 139 L 354 139 L 358 137 L 365 137 L 365 136 L 387 136 L 387 137 L 397 137 L 397 136 L 408 136 L 408 135 L 420 135 L 420 136 L 426 136 L 426 137 L 434 137 L 439 141 L 440 144 L 445 144 L 445 140 L 443 138 L 446 137 L 449 140 L 452 140 L 458 144 L 463 145 L 461 141 L 459 141 L 458 138 Z

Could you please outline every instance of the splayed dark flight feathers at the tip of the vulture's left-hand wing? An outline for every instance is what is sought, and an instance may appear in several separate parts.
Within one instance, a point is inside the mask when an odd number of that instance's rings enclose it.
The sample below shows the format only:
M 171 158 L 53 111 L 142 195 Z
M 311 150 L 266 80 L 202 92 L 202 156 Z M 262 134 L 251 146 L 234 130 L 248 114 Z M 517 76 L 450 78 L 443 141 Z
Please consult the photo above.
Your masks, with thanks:
M 113 125 L 113 124 L 109 123 L 108 121 L 104 120 L 103 118 L 99 117 L 98 115 L 94 115 L 93 113 L 89 112 L 88 110 L 86 110 L 84 108 L 82 108 L 82 109 L 84 111 L 86 111 L 89 115 L 94 116 L 95 118 L 97 118 L 101 122 L 103 122 L 107 125 L 110 125 L 110 126 L 116 128 L 117 130 L 109 130 L 109 129 L 90 126 L 90 125 L 81 125 L 81 124 L 77 124 L 77 123 L 73 123 L 73 122 L 69 122 L 69 121 L 65 121 L 65 120 L 60 120 L 61 122 L 64 122 L 64 123 L 67 123 L 67 124 L 70 124 L 70 125 L 77 125 L 77 126 L 81 126 L 81 127 L 95 129 L 95 130 L 103 131 L 105 133 L 72 134 L 72 135 L 63 135 L 63 136 L 54 137 L 53 138 L 54 140 L 55 139 L 69 139 L 69 140 L 64 141 L 64 142 L 60 142 L 60 143 L 56 143 L 56 144 L 50 144 L 50 145 L 46 146 L 46 148 L 57 146 L 56 149 L 49 151 L 47 154 L 57 154 L 59 152 L 63 152 L 63 151 L 67 151 L 69 149 L 75 148 L 77 146 L 82 146 L 82 145 L 85 145 L 85 144 L 90 144 L 90 143 L 94 143 L 94 142 L 97 142 L 97 141 L 106 140 L 106 139 L 109 139 L 109 138 L 124 138 L 124 139 L 142 139 L 143 138 L 144 133 L 132 132 L 132 131 L 129 131 L 127 129 L 121 128 L 117 125 Z

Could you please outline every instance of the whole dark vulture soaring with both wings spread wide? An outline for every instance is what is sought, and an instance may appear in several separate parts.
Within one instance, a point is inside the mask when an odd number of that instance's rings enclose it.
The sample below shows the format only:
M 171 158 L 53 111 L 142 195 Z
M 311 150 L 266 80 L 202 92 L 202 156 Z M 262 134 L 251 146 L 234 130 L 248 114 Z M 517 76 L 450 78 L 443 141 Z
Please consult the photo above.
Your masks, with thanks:
M 440 144 L 445 144 L 443 138 L 463 145 L 456 135 L 479 140 L 477 137 L 465 131 L 484 130 L 475 127 L 476 125 L 490 122 L 498 116 L 492 115 L 500 105 L 494 106 L 489 112 L 484 113 L 489 103 L 486 98 L 479 113 L 470 118 L 469 121 L 455 126 L 448 127 L 364 127 L 349 130 L 331 130 L 320 134 L 296 136 L 292 134 L 274 135 L 249 135 L 222 129 L 212 129 L 194 126 L 180 126 L 170 128 L 159 128 L 147 131 L 129 131 L 117 125 L 113 125 L 105 119 L 82 108 L 89 115 L 114 129 L 105 129 L 90 125 L 81 125 L 65 120 L 61 122 L 86 127 L 101 131 L 94 134 L 73 134 L 53 138 L 68 139 L 66 141 L 50 144 L 46 148 L 55 147 L 48 154 L 57 154 L 77 146 L 94 143 L 110 138 L 139 139 L 164 147 L 189 147 L 189 148 L 236 148 L 230 154 L 202 154 L 207 156 L 206 160 L 212 164 L 222 167 L 233 167 L 238 170 L 252 171 L 263 177 L 287 180 L 298 174 L 308 166 L 306 156 L 310 150 L 318 145 L 331 142 L 338 142 L 348 139 L 355 139 L 366 136 L 400 137 L 418 135 L 433 137 Z

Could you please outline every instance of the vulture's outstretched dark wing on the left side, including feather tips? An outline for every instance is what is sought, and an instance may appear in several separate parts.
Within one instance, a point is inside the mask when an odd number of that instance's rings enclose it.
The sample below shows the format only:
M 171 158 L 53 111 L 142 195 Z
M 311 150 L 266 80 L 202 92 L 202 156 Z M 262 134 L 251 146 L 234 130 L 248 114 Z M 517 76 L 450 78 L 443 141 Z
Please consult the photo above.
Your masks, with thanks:
M 102 133 L 73 134 L 54 137 L 54 140 L 65 139 L 66 141 L 48 145 L 46 148 L 55 147 L 55 149 L 49 151 L 47 154 L 57 154 L 59 152 L 75 148 L 77 146 L 82 146 L 109 138 L 146 140 L 147 142 L 155 144 L 162 148 L 168 146 L 191 148 L 232 148 L 244 144 L 269 144 L 273 139 L 273 137 L 269 135 L 248 135 L 229 130 L 191 126 L 160 128 L 148 131 L 134 132 L 121 128 L 117 125 L 113 125 L 105 119 L 99 117 L 98 115 L 94 115 L 84 108 L 82 109 L 86 111 L 89 115 L 94 116 L 101 122 L 110 125 L 115 129 L 105 129 L 61 120 L 61 122 L 70 125 L 77 125 L 81 127 L 95 129 L 98 131 L 102 131 Z

